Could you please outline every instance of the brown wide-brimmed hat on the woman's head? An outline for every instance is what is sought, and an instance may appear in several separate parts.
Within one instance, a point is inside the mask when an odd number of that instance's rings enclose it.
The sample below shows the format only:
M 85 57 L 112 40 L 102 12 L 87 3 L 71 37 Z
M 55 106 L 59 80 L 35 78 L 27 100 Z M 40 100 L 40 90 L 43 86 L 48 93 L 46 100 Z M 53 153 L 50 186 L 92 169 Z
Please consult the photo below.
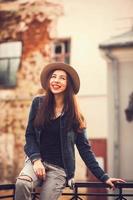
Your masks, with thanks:
M 55 63 L 48 64 L 43 68 L 41 72 L 41 76 L 40 76 L 42 87 L 46 89 L 46 83 L 47 83 L 50 72 L 54 70 L 58 70 L 58 69 L 64 70 L 67 74 L 69 74 L 73 82 L 74 93 L 77 94 L 80 88 L 79 75 L 73 67 L 65 63 L 55 62 Z

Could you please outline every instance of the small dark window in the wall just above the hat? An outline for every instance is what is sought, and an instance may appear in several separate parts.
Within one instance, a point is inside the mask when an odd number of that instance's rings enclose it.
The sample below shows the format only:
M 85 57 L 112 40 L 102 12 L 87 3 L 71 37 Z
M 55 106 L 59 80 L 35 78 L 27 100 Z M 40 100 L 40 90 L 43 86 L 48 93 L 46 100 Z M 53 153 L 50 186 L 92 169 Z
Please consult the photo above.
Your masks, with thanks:
M 52 47 L 53 60 L 70 63 L 70 39 L 56 39 Z

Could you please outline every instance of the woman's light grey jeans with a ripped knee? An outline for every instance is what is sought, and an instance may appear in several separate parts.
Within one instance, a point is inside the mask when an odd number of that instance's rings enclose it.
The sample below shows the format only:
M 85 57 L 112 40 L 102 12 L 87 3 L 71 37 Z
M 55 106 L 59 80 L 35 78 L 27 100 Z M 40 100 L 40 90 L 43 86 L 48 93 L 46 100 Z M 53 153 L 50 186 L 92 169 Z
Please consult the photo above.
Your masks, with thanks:
M 34 188 L 41 184 L 40 200 L 57 200 L 66 186 L 65 171 L 55 165 L 43 163 L 46 169 L 44 181 L 36 176 L 31 161 L 25 161 L 25 166 L 16 181 L 15 200 L 31 200 Z M 23 177 L 27 176 L 28 180 Z

